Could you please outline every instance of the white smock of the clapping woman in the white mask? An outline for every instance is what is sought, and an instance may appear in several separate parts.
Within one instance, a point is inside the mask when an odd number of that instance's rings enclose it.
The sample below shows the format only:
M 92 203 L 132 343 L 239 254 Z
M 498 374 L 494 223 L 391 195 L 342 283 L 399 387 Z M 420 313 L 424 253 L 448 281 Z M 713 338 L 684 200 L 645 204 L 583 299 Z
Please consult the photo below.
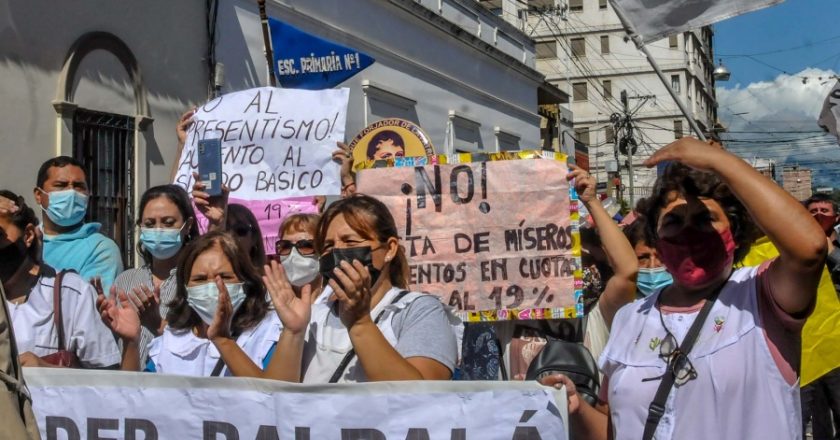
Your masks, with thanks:
M 282 330 L 283 324 L 277 313 L 269 310 L 259 324 L 236 338 L 236 345 L 258 367 L 263 368 Z M 149 362 L 156 373 L 206 377 L 211 375 L 220 357 L 219 350 L 209 339 L 199 338 L 190 330 L 173 330 L 169 326 L 163 330 L 163 335 L 149 344 Z M 225 366 L 220 376 L 230 375 Z

